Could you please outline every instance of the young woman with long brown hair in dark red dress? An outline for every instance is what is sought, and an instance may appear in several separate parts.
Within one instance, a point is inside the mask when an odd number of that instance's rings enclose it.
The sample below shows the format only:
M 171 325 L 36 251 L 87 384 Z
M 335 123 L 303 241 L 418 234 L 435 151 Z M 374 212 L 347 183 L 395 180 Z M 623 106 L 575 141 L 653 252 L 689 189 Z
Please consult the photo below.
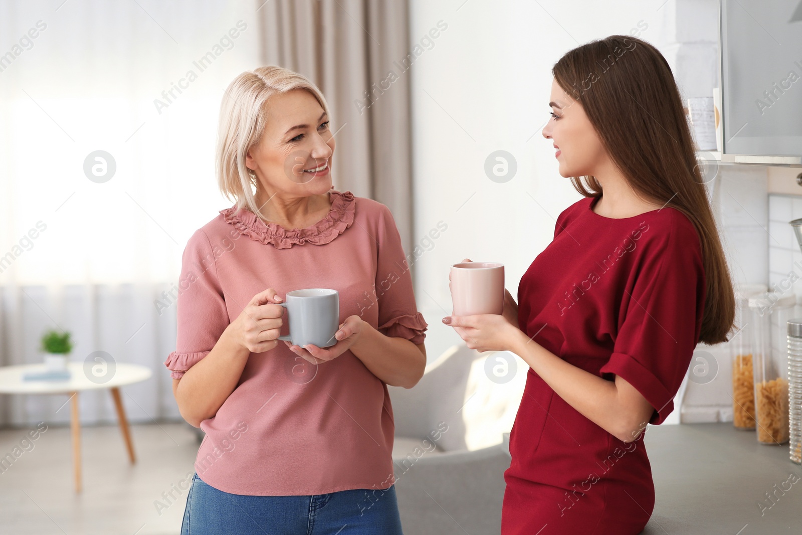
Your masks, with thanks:
M 654 508 L 643 431 L 673 410 L 696 343 L 727 340 L 731 279 L 662 55 L 614 35 L 553 75 L 543 136 L 585 198 L 557 218 L 518 304 L 507 293 L 502 316 L 444 322 L 530 367 L 501 532 L 640 533 Z

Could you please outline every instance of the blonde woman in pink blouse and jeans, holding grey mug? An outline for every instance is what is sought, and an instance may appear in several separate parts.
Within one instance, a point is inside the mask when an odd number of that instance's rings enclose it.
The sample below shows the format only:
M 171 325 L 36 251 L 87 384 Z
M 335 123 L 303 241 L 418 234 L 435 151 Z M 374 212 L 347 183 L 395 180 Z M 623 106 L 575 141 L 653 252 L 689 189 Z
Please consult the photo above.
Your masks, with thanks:
M 334 190 L 333 154 L 303 76 L 260 67 L 225 91 L 217 176 L 236 205 L 184 249 L 165 362 L 206 433 L 181 533 L 401 533 L 387 384 L 423 375 L 427 324 L 390 211 Z M 334 346 L 277 343 L 278 303 L 306 288 L 339 293 Z

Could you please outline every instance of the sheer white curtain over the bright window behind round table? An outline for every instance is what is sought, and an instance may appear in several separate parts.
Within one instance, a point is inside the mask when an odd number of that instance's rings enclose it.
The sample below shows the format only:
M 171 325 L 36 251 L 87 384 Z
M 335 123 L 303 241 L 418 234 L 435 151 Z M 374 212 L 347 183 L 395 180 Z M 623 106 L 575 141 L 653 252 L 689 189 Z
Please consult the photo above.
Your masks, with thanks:
M 188 237 L 231 205 L 213 174 L 217 111 L 260 64 L 258 6 L 0 2 L 0 365 L 41 362 L 43 331 L 68 330 L 73 361 L 152 368 L 122 388 L 129 419 L 179 416 L 162 292 Z M 0 425 L 67 422 L 66 399 L 2 395 Z M 80 404 L 84 424 L 115 421 L 107 391 Z

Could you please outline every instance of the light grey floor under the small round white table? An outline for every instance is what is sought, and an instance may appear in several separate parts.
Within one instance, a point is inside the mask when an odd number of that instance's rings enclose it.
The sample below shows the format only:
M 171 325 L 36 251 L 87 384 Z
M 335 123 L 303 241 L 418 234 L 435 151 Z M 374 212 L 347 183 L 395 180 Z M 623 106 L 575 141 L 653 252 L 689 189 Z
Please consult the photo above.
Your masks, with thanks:
M 0 456 L 28 429 L 0 432 Z M 83 492 L 73 490 L 69 428 L 50 427 L 5 472 L 0 470 L 0 533 L 14 535 L 177 535 L 198 444 L 187 424 L 132 426 L 137 463 L 128 462 L 119 428 L 83 428 Z M 20 448 L 19 451 L 22 451 Z M 169 504 L 162 496 L 170 492 Z M 167 505 L 158 508 L 156 501 Z

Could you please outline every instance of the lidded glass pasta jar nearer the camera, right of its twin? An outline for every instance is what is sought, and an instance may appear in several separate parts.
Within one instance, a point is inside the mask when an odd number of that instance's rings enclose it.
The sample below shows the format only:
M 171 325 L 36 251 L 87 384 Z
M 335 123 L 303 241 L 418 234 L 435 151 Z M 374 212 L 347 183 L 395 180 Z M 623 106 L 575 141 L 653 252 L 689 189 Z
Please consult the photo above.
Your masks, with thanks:
M 788 320 L 796 295 L 763 294 L 749 299 L 755 431 L 761 444 L 788 442 Z

